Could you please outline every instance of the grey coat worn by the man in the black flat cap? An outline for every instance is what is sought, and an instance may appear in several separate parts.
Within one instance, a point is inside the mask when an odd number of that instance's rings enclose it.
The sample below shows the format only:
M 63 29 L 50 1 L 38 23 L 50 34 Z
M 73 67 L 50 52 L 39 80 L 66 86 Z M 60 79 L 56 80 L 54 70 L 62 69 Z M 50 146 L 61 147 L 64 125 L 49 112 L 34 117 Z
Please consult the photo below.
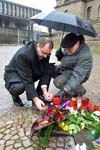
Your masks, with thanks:
M 61 59 L 60 70 L 67 78 L 65 88 L 74 90 L 78 85 L 88 80 L 92 69 L 93 57 L 90 48 L 82 41 L 73 55 L 67 53 Z

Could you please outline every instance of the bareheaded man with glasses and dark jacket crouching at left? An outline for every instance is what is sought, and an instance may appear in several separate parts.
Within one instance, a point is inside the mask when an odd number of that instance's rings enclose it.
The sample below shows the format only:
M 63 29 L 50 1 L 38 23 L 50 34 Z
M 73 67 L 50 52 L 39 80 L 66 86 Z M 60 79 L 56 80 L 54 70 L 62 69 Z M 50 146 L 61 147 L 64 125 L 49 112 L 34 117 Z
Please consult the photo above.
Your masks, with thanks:
M 44 109 L 44 102 L 52 100 L 48 86 L 53 73 L 53 64 L 49 63 L 53 42 L 47 37 L 37 42 L 30 42 L 20 48 L 5 67 L 5 87 L 12 95 L 16 106 L 24 106 L 19 95 L 26 91 L 27 99 L 32 100 L 39 110 Z M 37 89 L 34 82 L 38 81 Z

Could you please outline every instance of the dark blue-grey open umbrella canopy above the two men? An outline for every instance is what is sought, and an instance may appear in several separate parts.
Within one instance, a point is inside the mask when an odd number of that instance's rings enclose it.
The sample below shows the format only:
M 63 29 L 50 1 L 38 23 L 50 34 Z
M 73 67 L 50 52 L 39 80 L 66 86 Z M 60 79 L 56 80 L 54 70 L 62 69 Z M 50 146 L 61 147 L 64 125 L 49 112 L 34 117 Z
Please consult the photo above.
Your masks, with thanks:
M 33 22 L 58 31 L 72 32 L 79 35 L 95 37 L 96 31 L 90 21 L 59 11 L 41 12 L 31 18 Z

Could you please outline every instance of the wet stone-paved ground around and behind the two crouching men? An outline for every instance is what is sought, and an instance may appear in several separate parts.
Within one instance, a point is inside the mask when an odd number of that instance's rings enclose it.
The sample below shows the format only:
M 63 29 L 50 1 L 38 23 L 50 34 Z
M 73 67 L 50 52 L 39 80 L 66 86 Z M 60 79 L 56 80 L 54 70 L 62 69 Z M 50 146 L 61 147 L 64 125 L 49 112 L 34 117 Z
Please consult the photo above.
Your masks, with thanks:
M 9 62 L 19 46 L 2 46 L 0 47 L 0 150 L 41 150 L 37 149 L 30 140 L 31 125 L 36 118 L 38 111 L 32 109 L 31 104 L 26 101 L 25 94 L 21 96 L 24 108 L 16 108 L 13 105 L 11 97 L 4 87 L 3 73 L 4 66 Z M 54 54 L 52 60 L 54 60 Z M 87 89 L 85 96 L 89 97 L 91 102 L 99 104 L 97 101 L 100 96 L 100 56 L 94 56 L 93 70 L 90 79 L 84 86 Z M 50 85 L 50 91 L 55 93 L 57 89 Z M 35 138 L 35 137 L 34 137 Z M 46 150 L 75 150 L 70 145 L 74 146 L 73 138 L 66 139 L 58 137 L 54 144 L 55 138 L 52 137 Z M 65 145 L 62 145 L 62 139 L 65 140 Z M 69 141 L 69 142 L 68 142 Z M 70 144 L 71 143 L 71 144 Z M 58 147 L 57 147 L 58 144 Z M 55 147 L 56 145 L 56 147 Z M 62 148 L 62 146 L 64 146 Z

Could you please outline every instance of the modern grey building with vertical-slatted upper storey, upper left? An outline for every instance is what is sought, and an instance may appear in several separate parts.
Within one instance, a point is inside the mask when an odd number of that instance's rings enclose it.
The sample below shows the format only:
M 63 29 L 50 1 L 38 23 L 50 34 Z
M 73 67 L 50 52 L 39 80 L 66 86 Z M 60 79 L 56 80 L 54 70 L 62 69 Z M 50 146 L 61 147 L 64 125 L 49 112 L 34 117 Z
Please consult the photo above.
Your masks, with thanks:
M 39 12 L 39 9 L 0 0 L 0 44 L 21 44 L 32 40 L 30 18 Z

